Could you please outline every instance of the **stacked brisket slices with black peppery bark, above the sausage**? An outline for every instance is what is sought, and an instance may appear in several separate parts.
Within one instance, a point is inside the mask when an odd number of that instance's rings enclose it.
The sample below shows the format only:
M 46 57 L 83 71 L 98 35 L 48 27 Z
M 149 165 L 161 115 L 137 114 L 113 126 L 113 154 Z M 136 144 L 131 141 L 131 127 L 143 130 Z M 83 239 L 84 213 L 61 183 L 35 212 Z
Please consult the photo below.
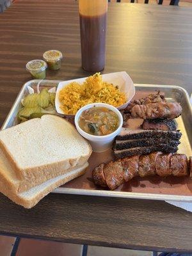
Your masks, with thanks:
M 179 131 L 122 128 L 113 146 L 114 155 L 118 159 L 156 151 L 175 153 L 181 136 Z

